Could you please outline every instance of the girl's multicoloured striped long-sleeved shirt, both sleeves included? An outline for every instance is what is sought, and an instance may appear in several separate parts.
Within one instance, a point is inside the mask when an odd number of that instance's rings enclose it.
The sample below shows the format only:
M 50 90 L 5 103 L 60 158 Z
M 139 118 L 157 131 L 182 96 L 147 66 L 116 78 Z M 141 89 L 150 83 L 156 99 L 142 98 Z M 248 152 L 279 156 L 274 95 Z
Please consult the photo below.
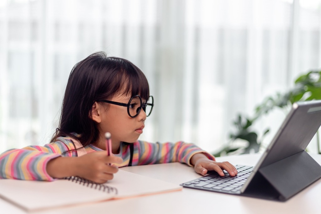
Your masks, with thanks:
M 136 141 L 133 144 L 132 166 L 170 162 L 181 162 L 192 166 L 190 164 L 191 157 L 200 152 L 204 153 L 209 159 L 215 160 L 211 154 L 194 144 L 182 141 L 176 143 Z M 75 144 L 70 137 L 58 137 L 55 142 L 44 146 L 27 146 L 22 149 L 7 150 L 0 155 L 0 179 L 53 181 L 55 178 L 48 175 L 46 170 L 48 161 L 60 156 L 77 157 L 77 151 L 72 151 L 75 148 Z M 84 149 L 87 153 L 102 151 L 92 144 Z M 128 166 L 130 159 L 129 144 L 122 142 L 119 153 L 114 155 L 123 158 L 122 164 L 116 164 L 118 167 Z

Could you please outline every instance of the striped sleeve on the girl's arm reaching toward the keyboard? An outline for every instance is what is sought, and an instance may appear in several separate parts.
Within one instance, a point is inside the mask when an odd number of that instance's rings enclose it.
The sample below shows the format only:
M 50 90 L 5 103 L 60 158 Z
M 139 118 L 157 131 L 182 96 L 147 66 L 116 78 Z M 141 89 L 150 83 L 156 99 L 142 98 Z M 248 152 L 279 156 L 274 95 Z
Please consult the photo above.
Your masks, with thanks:
M 178 141 L 176 143 L 149 143 L 137 141 L 134 143 L 133 165 L 147 165 L 170 162 L 181 162 L 189 166 L 191 157 L 196 153 L 204 153 L 209 159 L 215 160 L 214 156 L 201 150 L 192 143 Z M 124 161 L 126 157 L 124 157 Z

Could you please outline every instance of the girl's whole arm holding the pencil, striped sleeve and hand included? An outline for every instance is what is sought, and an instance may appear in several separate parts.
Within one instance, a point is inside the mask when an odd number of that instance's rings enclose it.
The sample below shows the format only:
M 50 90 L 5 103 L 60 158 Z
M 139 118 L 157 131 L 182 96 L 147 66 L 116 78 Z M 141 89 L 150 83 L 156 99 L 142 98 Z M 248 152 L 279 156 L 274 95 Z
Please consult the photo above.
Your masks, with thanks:
M 122 162 L 121 158 L 107 157 L 106 151 L 92 152 L 81 157 L 77 157 L 77 152 L 72 151 L 62 156 L 65 151 L 75 149 L 72 141 L 62 141 L 2 153 L 0 178 L 53 181 L 55 178 L 74 175 L 104 183 L 112 179 L 112 174 L 118 170 L 115 166 L 105 167 L 106 162 Z

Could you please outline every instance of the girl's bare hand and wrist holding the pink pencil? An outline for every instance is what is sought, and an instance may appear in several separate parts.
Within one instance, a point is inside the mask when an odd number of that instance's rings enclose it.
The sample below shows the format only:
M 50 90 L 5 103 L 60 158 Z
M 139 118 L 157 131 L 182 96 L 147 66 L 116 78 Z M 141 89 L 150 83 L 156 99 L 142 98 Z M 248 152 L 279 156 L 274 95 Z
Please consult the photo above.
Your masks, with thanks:
M 113 179 L 118 171 L 115 165 L 123 159 L 114 155 L 107 156 L 106 151 L 91 152 L 81 157 L 58 157 L 47 164 L 47 173 L 54 178 L 80 176 L 93 182 L 102 184 Z

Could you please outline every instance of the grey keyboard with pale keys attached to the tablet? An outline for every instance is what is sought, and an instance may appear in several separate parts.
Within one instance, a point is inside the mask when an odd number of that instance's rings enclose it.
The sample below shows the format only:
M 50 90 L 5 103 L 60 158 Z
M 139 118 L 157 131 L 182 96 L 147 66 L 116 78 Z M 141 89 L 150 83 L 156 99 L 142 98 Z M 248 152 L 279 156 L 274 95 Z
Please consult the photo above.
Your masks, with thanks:
M 234 177 L 230 176 L 225 170 L 224 176 L 220 176 L 215 171 L 210 171 L 208 175 L 180 185 L 193 189 L 240 194 L 240 189 L 245 184 L 248 176 L 250 176 L 253 167 L 243 165 L 236 165 L 235 167 L 238 170 L 238 174 Z

